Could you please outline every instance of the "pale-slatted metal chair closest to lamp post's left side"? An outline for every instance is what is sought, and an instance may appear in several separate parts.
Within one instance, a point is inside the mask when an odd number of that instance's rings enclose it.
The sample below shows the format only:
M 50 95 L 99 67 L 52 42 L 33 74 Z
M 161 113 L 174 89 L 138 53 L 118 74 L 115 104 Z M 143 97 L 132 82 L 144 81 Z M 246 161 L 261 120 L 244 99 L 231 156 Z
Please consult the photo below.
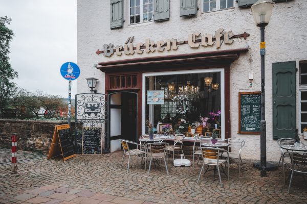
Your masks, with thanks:
M 225 139 L 222 142 L 228 143 L 227 151 L 229 152 L 229 158 L 238 159 L 239 160 L 239 175 L 240 175 L 240 162 L 242 163 L 242 167 L 244 170 L 243 161 L 241 158 L 241 151 L 243 146 L 245 145 L 245 141 L 239 138 L 229 138 Z M 229 151 L 231 149 L 231 151 Z

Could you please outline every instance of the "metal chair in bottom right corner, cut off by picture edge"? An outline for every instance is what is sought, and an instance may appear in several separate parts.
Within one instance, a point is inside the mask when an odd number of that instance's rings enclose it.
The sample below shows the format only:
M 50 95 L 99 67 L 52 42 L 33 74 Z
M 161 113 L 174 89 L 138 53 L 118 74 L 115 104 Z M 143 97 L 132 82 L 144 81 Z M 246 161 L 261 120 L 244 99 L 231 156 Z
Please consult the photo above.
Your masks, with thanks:
M 291 170 L 291 178 L 290 178 L 290 183 L 289 183 L 289 188 L 288 188 L 288 194 L 290 192 L 290 187 L 292 184 L 292 177 L 294 172 L 296 173 L 307 173 L 307 152 L 304 151 L 286 151 L 283 153 L 283 156 L 289 155 L 291 158 L 291 164 L 288 164 L 288 168 Z M 305 180 L 305 177 L 304 181 Z

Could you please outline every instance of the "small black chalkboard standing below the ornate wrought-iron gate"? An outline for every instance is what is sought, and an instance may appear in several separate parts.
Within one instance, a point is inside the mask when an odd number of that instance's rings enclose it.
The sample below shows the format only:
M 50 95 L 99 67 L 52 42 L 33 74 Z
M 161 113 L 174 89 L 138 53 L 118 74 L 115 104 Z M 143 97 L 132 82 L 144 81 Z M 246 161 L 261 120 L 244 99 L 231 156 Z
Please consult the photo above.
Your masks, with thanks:
M 101 155 L 101 127 L 83 127 L 82 155 Z

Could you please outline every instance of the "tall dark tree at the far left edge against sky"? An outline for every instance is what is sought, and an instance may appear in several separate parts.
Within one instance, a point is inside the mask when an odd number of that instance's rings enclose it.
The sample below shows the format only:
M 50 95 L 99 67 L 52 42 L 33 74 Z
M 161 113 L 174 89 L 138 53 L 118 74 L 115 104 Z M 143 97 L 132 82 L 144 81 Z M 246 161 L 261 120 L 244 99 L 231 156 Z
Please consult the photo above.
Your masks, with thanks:
M 17 78 L 17 72 L 9 63 L 10 41 L 14 33 L 6 24 L 10 24 L 11 19 L 7 16 L 0 17 L 0 110 L 7 106 L 8 98 L 16 89 L 15 83 L 11 82 Z

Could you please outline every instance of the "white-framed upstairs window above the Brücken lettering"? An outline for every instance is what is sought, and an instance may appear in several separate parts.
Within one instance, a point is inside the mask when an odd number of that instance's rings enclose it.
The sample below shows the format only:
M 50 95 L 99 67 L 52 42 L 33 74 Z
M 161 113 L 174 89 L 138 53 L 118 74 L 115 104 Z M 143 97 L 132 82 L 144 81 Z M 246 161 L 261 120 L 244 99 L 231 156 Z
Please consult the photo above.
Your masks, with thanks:
M 152 0 L 130 0 L 130 24 L 152 21 Z

